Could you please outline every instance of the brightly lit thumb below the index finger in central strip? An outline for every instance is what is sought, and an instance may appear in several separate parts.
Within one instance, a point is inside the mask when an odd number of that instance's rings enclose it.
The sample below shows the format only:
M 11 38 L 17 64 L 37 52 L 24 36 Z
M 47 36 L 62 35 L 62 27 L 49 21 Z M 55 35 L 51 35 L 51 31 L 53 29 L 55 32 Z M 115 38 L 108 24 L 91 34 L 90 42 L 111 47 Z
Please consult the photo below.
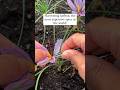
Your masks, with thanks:
M 70 60 L 85 80 L 85 56 L 77 50 L 69 49 L 62 53 L 62 58 Z

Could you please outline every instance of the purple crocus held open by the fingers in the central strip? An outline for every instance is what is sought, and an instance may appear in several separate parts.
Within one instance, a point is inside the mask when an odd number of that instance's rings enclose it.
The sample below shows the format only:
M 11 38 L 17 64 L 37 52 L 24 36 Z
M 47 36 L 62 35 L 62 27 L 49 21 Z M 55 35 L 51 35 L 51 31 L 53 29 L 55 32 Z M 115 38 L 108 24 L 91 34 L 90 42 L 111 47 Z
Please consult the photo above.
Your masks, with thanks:
M 55 63 L 56 60 L 58 59 L 58 55 L 60 53 L 60 47 L 62 45 L 63 40 L 62 39 L 58 39 L 57 42 L 55 43 L 54 46 L 54 52 L 53 52 L 53 56 L 50 55 L 49 51 L 47 50 L 47 48 L 45 48 L 43 45 L 41 45 L 40 43 L 38 43 L 37 41 L 35 41 L 35 50 L 40 49 L 44 52 L 47 53 L 47 55 L 44 58 L 39 58 L 40 60 L 38 60 L 36 63 L 38 66 L 42 67 L 45 66 L 47 63 Z M 37 54 L 39 52 L 36 52 L 36 57 Z M 39 54 L 40 55 L 40 54 Z M 37 58 L 36 58 L 37 59 Z

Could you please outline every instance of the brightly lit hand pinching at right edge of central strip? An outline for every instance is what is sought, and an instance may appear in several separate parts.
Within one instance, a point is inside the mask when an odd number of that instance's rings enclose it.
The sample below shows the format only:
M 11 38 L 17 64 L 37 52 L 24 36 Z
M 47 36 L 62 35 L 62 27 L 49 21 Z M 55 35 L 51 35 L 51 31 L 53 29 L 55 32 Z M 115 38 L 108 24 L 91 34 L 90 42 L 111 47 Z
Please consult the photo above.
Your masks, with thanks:
M 74 50 L 80 48 L 82 52 Z M 67 39 L 61 47 L 62 57 L 71 60 L 80 76 L 85 79 L 85 35 L 76 33 Z

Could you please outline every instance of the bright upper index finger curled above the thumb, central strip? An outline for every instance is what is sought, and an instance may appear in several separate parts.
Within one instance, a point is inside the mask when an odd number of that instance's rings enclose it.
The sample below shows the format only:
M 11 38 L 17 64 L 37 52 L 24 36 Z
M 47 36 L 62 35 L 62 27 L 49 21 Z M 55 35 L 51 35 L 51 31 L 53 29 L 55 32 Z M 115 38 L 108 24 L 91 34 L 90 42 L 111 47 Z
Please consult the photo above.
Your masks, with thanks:
M 62 45 L 61 51 L 72 48 L 81 48 L 85 52 L 85 34 L 75 33 L 69 37 Z

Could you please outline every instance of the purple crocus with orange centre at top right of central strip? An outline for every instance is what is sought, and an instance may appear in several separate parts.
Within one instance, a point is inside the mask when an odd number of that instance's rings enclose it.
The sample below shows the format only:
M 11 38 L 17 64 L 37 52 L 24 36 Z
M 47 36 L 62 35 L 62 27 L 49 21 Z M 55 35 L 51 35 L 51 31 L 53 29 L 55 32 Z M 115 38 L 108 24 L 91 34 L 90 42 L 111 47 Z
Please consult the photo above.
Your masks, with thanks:
M 73 14 L 85 16 L 85 0 L 67 0 Z

